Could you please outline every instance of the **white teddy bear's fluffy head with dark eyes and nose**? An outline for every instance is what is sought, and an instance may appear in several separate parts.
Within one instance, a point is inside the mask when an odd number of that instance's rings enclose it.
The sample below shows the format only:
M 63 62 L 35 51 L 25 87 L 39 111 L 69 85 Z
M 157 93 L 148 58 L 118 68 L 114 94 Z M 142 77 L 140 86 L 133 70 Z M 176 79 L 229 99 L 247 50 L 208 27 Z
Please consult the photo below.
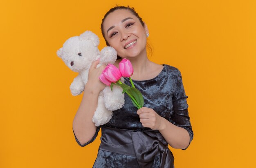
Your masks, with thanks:
M 57 55 L 75 72 L 89 69 L 91 63 L 99 57 L 99 38 L 91 31 L 67 39 Z

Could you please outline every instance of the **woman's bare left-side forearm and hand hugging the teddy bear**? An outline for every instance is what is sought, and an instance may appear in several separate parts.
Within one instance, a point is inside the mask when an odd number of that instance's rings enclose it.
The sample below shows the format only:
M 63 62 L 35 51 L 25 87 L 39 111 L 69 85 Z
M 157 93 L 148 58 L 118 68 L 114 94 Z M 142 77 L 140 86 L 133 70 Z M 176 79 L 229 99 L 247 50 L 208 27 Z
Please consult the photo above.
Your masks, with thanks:
M 105 66 L 97 69 L 97 64 L 99 64 L 98 60 L 94 61 L 90 67 L 83 98 L 73 120 L 73 131 L 80 144 L 90 141 L 97 129 L 92 122 L 92 116 L 97 108 L 99 92 L 106 86 L 98 79 Z

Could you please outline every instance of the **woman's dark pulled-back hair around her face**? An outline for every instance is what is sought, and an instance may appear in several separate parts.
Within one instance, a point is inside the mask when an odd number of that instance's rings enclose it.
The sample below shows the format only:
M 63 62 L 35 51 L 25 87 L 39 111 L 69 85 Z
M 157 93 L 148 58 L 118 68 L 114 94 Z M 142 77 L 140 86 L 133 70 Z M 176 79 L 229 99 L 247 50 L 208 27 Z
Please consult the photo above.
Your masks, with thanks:
M 105 40 L 107 46 L 110 46 L 110 45 L 108 44 L 108 41 L 107 41 L 106 38 L 105 38 L 105 34 L 104 34 L 104 31 L 103 31 L 103 22 L 105 21 L 106 17 L 107 17 L 110 13 L 112 13 L 112 12 L 118 10 L 118 9 L 126 9 L 126 10 L 130 11 L 133 15 L 135 15 L 135 16 L 139 19 L 139 22 L 141 23 L 141 25 L 142 25 L 143 27 L 145 26 L 145 24 L 144 24 L 144 22 L 142 21 L 141 17 L 139 17 L 139 14 L 134 10 L 133 7 L 130 7 L 130 6 L 127 6 L 127 7 L 125 7 L 125 6 L 116 6 L 116 7 L 111 8 L 111 9 L 104 15 L 104 17 L 103 17 L 103 19 L 102 19 L 102 21 L 101 21 L 101 33 L 102 33 L 102 35 L 103 35 L 103 38 L 104 38 L 104 40 Z M 148 44 L 148 42 L 147 42 L 147 45 L 146 45 L 146 46 L 147 46 L 148 49 L 150 50 L 150 53 L 152 53 L 152 49 L 151 49 L 150 45 Z M 118 59 L 121 59 L 121 57 L 119 57 L 119 56 L 117 55 L 117 60 L 118 60 Z

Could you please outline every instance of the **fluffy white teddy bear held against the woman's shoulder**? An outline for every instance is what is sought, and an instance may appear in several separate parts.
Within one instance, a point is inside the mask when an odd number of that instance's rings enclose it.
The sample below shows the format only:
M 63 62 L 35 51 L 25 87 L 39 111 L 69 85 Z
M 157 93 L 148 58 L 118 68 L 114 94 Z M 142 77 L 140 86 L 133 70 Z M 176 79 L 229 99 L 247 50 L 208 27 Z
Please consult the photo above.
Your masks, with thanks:
M 97 68 L 101 65 L 113 64 L 117 60 L 117 51 L 110 46 L 104 47 L 101 52 L 98 49 L 99 38 L 91 31 L 85 31 L 79 36 L 69 38 L 61 49 L 57 51 L 58 57 L 65 64 L 79 75 L 74 78 L 70 85 L 72 95 L 76 96 L 83 92 L 88 81 L 88 72 L 93 61 L 100 58 Z M 124 82 L 124 78 L 121 78 Z M 98 106 L 92 117 L 95 126 L 100 126 L 109 122 L 112 111 L 124 105 L 123 89 L 114 85 L 113 91 L 110 86 L 106 86 L 99 93 Z

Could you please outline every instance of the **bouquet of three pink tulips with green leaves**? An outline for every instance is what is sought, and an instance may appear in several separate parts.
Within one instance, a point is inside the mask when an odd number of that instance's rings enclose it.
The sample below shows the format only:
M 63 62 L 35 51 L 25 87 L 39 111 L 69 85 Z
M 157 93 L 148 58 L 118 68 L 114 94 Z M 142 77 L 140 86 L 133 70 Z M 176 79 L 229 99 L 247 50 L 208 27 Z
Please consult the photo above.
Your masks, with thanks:
M 132 82 L 132 79 L 130 77 L 132 74 L 132 64 L 130 60 L 124 58 L 123 60 L 121 60 L 121 62 L 119 62 L 119 69 L 113 64 L 108 64 L 99 76 L 99 80 L 101 80 L 101 82 L 103 82 L 104 84 L 110 86 L 111 91 L 113 89 L 113 85 L 117 85 L 123 88 L 122 93 L 127 93 L 127 95 L 132 100 L 132 104 L 139 109 L 143 107 L 144 99 L 142 94 L 137 90 L 137 88 L 135 88 Z M 129 77 L 132 87 L 122 83 L 120 81 L 121 77 Z

